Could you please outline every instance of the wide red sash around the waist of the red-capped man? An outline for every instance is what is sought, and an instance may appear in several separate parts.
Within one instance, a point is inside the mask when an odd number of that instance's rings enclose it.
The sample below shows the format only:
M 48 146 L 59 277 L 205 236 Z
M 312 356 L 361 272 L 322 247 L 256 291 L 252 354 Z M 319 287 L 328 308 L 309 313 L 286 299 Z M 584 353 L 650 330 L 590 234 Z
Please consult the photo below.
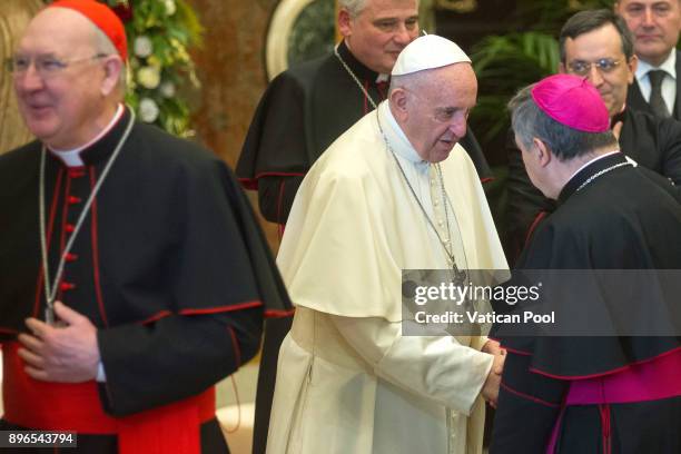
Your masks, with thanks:
M 23 371 L 18 343 L 3 345 L 4 420 L 41 431 L 118 435 L 118 452 L 200 453 L 200 424 L 215 417 L 215 387 L 180 402 L 130 416 L 106 414 L 95 381 L 40 382 Z

